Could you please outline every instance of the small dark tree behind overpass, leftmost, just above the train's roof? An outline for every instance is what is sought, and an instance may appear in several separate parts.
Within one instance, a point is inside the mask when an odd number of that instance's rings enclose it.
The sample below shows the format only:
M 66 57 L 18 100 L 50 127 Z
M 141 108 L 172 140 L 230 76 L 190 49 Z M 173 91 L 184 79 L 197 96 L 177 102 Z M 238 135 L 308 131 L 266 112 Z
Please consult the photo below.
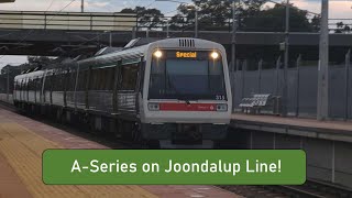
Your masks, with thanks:
M 164 14 L 157 9 L 146 9 L 145 7 L 135 7 L 134 9 L 128 8 L 121 10 L 121 13 L 136 13 L 139 26 L 147 28 L 160 28 L 163 25 Z

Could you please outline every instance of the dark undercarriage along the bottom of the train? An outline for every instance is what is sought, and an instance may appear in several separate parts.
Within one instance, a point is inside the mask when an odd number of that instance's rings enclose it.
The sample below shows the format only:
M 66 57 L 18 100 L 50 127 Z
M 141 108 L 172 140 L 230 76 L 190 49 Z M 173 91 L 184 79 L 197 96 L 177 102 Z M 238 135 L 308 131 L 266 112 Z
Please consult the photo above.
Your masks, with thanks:
M 118 140 L 151 148 L 212 148 L 226 139 L 227 124 L 141 123 L 133 114 L 113 114 L 95 110 L 52 105 L 14 102 L 31 117 L 44 117 L 96 134 L 111 134 Z

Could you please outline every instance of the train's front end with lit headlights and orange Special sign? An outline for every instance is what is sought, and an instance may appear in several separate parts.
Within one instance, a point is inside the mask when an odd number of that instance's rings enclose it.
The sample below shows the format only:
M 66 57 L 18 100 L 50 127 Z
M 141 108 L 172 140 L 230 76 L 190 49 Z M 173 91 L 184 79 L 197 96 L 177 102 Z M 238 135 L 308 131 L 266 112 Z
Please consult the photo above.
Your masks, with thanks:
M 226 138 L 232 109 L 222 45 L 169 38 L 150 45 L 142 134 L 166 144 L 207 144 Z

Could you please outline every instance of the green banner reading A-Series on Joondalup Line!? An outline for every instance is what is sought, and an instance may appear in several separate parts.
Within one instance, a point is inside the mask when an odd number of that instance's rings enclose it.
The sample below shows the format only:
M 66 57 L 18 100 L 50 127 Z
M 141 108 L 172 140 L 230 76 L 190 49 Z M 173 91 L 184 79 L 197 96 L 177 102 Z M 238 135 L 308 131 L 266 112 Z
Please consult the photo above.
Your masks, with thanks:
M 47 150 L 47 185 L 301 185 L 300 150 Z

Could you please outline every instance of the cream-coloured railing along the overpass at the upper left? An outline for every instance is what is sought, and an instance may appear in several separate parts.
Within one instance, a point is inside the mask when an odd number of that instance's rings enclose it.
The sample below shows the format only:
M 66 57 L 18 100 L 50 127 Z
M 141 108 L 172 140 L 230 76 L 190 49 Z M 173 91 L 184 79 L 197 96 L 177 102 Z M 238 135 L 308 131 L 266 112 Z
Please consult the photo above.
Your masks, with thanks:
M 0 29 L 132 31 L 136 15 L 101 12 L 0 11 Z

